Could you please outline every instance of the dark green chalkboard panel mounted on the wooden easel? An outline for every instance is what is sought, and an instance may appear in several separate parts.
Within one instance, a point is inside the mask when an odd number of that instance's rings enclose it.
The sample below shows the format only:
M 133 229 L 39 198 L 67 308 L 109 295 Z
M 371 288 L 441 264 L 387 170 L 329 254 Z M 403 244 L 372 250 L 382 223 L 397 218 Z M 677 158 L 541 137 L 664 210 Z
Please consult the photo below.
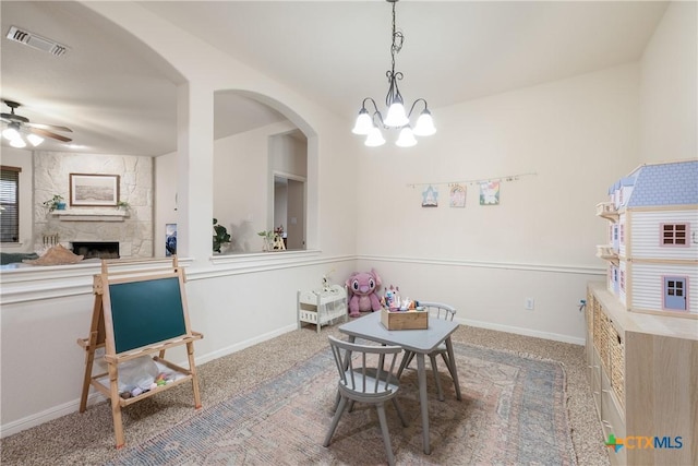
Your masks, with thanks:
M 116 353 L 184 336 L 178 277 L 109 284 Z

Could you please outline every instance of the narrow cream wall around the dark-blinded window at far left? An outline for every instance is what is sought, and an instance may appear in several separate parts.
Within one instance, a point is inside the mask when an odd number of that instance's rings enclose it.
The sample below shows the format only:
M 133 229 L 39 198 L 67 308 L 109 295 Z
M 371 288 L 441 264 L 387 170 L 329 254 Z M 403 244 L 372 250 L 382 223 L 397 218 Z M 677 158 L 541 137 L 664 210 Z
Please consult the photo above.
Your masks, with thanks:
M 20 205 L 26 208 L 20 210 L 20 242 L 0 243 L 4 252 L 33 252 L 34 251 L 34 228 L 32 222 L 32 208 L 34 204 L 34 168 L 32 164 L 32 152 L 14 147 L 2 147 L 0 163 L 10 167 L 20 167 Z

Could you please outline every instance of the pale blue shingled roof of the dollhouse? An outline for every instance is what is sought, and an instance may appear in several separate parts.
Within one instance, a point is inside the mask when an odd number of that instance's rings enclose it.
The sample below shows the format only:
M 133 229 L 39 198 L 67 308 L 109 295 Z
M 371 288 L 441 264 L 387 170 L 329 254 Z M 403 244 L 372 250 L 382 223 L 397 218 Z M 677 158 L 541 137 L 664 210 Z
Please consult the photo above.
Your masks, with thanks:
M 643 165 L 629 178 L 635 187 L 627 207 L 698 204 L 698 160 Z

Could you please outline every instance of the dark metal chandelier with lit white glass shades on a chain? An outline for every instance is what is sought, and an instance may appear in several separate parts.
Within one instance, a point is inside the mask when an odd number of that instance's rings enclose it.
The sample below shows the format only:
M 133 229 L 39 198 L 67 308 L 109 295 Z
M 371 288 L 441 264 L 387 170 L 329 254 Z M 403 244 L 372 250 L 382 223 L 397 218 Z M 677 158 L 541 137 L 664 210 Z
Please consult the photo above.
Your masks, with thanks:
M 429 111 L 426 100 L 423 98 L 420 97 L 414 100 L 409 113 L 405 111 L 402 95 L 397 86 L 397 82 L 402 80 L 402 73 L 395 71 L 395 55 L 399 53 L 402 48 L 405 35 L 401 31 L 396 31 L 395 28 L 395 3 L 397 3 L 398 0 L 386 1 L 388 3 L 393 3 L 393 45 L 390 46 L 392 62 L 390 70 L 385 73 L 388 79 L 388 93 L 385 96 L 385 105 L 388 108 L 388 111 L 386 117 L 383 118 L 375 100 L 371 97 L 364 98 L 361 104 L 359 116 L 357 117 L 357 122 L 351 132 L 354 134 L 365 135 L 366 140 L 364 144 L 370 147 L 376 147 L 385 144 L 385 139 L 383 138 L 380 127 L 383 127 L 385 130 L 399 129 L 400 133 L 395 144 L 400 147 L 410 147 L 417 144 L 417 139 L 414 136 L 432 135 L 436 132 L 436 128 L 434 128 L 434 121 L 432 120 L 432 113 Z M 369 113 L 366 103 L 371 103 L 373 105 L 373 113 Z M 412 129 L 412 126 L 410 124 L 410 117 L 418 104 L 423 104 L 424 109 L 419 115 L 417 123 Z

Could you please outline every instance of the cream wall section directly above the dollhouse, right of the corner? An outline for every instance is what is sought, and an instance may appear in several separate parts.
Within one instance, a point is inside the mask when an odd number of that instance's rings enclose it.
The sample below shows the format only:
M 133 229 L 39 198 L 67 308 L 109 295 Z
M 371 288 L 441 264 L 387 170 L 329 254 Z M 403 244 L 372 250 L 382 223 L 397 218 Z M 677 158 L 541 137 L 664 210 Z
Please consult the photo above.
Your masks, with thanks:
M 640 160 L 698 157 L 697 2 L 670 4 L 640 65 Z

